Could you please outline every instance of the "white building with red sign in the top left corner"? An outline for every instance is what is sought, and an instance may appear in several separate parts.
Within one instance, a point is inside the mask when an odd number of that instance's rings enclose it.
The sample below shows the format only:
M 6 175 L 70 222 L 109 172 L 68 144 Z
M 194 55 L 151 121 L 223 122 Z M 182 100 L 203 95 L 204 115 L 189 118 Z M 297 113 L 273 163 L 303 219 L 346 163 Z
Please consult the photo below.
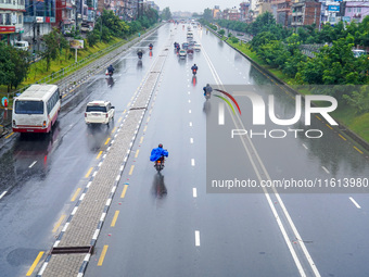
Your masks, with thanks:
M 25 11 L 24 0 L 0 0 L 0 40 L 13 43 L 22 39 Z

